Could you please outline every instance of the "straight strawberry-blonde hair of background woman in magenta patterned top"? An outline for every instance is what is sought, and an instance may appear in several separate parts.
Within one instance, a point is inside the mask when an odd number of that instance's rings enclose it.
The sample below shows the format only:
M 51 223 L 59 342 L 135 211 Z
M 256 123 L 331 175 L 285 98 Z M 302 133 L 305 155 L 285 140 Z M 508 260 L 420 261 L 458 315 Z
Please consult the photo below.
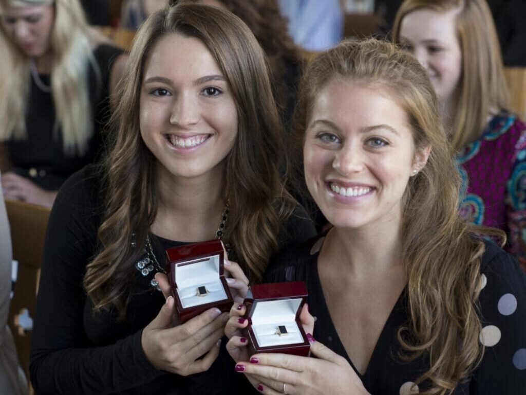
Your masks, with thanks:
M 393 40 L 400 42 L 400 26 L 407 14 L 428 8 L 436 12 L 458 9 L 457 36 L 462 52 L 457 114 L 451 144 L 460 151 L 480 138 L 492 111 L 509 107 L 497 31 L 485 0 L 406 0 L 398 9 Z

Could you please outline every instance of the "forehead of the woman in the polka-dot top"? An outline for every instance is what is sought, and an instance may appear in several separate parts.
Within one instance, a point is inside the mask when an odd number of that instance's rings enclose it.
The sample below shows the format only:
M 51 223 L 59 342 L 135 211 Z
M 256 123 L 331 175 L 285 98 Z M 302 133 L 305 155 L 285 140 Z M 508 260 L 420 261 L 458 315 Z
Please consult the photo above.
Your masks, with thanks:
M 321 118 L 336 123 L 342 130 L 386 124 L 409 132 L 406 112 L 386 88 L 350 81 L 333 80 L 321 89 L 313 103 L 310 122 Z

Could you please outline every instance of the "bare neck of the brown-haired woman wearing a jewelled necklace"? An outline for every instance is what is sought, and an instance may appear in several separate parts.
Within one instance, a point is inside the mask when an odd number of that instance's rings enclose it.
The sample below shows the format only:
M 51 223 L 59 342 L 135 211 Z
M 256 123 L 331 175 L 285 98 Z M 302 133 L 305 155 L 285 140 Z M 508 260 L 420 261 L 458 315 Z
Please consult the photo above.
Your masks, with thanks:
M 222 166 L 191 179 L 157 167 L 159 206 L 151 231 L 169 240 L 213 239 L 225 207 Z

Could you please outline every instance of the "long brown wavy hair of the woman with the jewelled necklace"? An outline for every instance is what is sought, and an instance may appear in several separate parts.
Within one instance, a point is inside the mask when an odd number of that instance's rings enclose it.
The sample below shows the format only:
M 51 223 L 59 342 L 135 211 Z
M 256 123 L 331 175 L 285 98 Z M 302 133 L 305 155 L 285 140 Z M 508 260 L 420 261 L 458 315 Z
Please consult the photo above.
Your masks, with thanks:
M 266 58 L 250 29 L 228 11 L 197 3 L 181 2 L 151 15 L 137 33 L 124 72 L 113 117 L 116 139 L 104 167 L 105 212 L 98 230 L 102 250 L 88 264 L 84 279 L 95 310 L 115 307 L 120 318 L 129 300 L 134 262 L 144 248 L 159 200 L 156 159 L 140 136 L 140 88 L 150 52 L 170 34 L 201 40 L 234 96 L 238 133 L 225 159 L 230 214 L 223 238 L 252 281 L 261 279 L 277 252 L 278 235 L 295 206 L 280 181 L 281 124 Z M 132 233 L 136 248 L 130 246 Z

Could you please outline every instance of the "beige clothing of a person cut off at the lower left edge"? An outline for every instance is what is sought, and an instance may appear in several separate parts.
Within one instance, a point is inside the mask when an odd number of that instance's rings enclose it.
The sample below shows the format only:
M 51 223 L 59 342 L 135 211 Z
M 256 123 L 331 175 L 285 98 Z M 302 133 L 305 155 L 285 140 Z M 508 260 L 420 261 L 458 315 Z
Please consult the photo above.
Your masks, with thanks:
M 4 196 L 0 194 L 0 388 L 2 393 L 23 395 L 27 394 L 27 382 L 22 369 L 18 366 L 13 335 L 7 326 L 11 294 L 11 260 L 9 222 Z

